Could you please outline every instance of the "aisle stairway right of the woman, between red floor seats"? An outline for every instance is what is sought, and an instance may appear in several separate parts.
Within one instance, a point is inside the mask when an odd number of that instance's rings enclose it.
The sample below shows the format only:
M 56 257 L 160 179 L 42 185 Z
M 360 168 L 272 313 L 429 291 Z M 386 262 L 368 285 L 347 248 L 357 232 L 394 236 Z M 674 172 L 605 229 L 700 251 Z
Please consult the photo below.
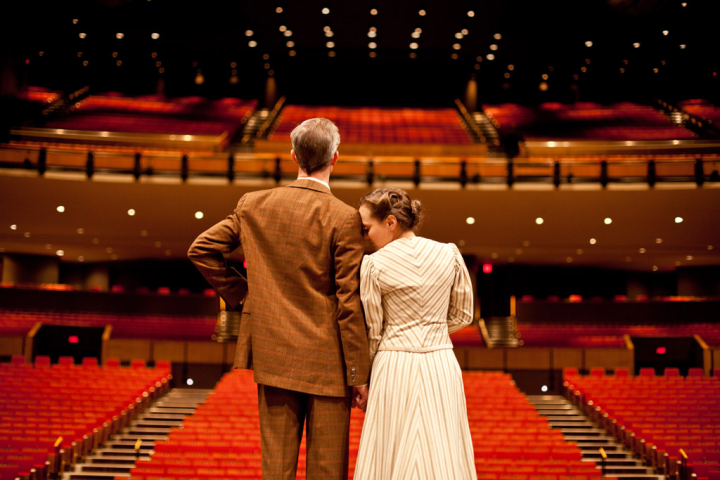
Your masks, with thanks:
M 547 418 L 551 428 L 559 429 L 568 442 L 577 442 L 583 462 L 594 462 L 601 468 L 600 448 L 606 455 L 606 477 L 624 480 L 664 480 L 651 467 L 633 457 L 632 453 L 607 432 L 597 428 L 580 410 L 560 395 L 528 395 L 538 413 Z

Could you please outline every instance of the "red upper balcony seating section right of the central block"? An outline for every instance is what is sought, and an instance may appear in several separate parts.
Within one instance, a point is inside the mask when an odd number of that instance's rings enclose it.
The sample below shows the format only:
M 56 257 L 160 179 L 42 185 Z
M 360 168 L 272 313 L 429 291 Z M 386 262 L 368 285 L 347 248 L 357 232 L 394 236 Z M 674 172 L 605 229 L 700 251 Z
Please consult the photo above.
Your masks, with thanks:
M 675 140 L 696 135 L 675 126 L 653 107 L 633 103 L 543 103 L 483 105 L 500 132 L 514 131 L 525 140 Z M 497 126 L 497 125 L 496 125 Z

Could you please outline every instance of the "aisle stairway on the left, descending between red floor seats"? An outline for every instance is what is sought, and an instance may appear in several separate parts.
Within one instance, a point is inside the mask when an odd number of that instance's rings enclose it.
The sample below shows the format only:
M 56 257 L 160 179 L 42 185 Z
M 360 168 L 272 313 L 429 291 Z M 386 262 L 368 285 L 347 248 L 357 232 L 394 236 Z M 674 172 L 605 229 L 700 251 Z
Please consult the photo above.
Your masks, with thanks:
M 167 440 L 171 428 L 179 427 L 186 417 L 193 415 L 198 405 L 205 403 L 212 390 L 173 389 L 139 415 L 130 426 L 114 435 L 102 447 L 78 463 L 63 480 L 130 478 L 135 462 L 150 460 L 155 442 Z M 142 440 L 136 452 L 135 445 Z

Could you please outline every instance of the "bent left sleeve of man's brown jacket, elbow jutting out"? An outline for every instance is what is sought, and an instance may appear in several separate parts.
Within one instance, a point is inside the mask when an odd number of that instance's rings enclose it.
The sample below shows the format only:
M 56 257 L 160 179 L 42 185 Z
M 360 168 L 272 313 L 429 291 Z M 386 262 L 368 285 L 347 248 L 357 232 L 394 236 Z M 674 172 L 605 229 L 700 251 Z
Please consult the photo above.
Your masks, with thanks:
M 241 244 L 240 209 L 244 201 L 243 196 L 230 216 L 200 234 L 188 250 L 190 261 L 231 308 L 242 302 L 248 291 L 247 279 L 229 268 L 223 257 Z

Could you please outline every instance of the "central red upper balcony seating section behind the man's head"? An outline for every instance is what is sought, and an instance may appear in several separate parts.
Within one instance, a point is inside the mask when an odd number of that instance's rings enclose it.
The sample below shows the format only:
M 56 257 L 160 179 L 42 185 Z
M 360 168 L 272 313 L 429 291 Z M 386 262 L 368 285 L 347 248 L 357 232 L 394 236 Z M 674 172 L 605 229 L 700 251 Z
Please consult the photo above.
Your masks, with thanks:
M 287 141 L 290 132 L 308 118 L 335 122 L 343 143 L 470 144 L 472 140 L 451 108 L 375 108 L 286 106 L 270 140 Z

